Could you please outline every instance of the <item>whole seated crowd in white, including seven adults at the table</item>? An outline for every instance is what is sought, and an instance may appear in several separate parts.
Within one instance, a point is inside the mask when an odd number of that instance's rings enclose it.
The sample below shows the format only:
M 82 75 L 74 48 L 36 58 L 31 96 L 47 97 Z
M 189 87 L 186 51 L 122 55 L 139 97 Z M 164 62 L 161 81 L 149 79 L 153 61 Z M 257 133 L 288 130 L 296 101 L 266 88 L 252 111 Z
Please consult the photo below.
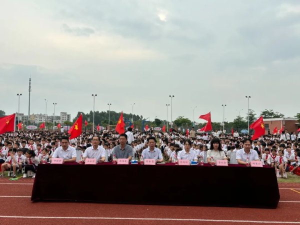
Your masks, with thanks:
M 231 164 L 248 165 L 252 160 L 274 167 L 279 177 L 287 177 L 286 171 L 295 173 L 300 165 L 298 139 L 286 135 L 266 135 L 252 142 L 249 135 L 223 133 L 196 133 L 194 128 L 185 133 L 134 131 L 129 127 L 126 133 L 114 131 L 97 133 L 83 132 L 69 140 L 66 133 L 47 131 L 20 131 L 0 135 L 0 177 L 4 171 L 8 176 L 35 177 L 39 163 L 50 162 L 52 158 L 63 158 L 64 162 L 84 163 L 86 158 L 97 162 L 155 159 L 156 162 L 174 162 L 188 159 L 198 163 L 214 164 L 216 160 L 228 160 Z M 14 136 L 13 136 L 14 134 Z M 79 152 L 79 155 L 78 155 Z

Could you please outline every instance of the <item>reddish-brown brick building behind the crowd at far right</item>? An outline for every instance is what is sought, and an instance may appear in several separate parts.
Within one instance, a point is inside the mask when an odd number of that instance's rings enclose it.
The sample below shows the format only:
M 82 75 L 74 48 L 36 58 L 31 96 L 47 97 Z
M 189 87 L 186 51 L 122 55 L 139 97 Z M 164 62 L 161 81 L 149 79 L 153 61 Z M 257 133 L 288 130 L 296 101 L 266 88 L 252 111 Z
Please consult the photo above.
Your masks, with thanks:
M 292 117 L 282 117 L 282 118 L 264 118 L 264 129 L 265 134 L 273 134 L 273 129 L 277 127 L 278 131 L 281 127 L 287 129 L 290 132 L 297 132 L 297 129 L 300 127 L 300 123 L 296 118 Z

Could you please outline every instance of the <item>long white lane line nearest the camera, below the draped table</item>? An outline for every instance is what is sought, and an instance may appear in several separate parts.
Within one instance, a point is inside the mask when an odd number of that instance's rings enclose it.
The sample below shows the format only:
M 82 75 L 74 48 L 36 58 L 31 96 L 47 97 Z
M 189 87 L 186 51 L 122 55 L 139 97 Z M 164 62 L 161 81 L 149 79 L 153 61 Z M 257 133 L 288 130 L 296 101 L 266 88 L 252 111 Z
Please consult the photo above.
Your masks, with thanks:
M 73 217 L 73 216 L 14 216 L 0 215 L 0 218 L 37 218 L 37 219 L 115 219 L 115 220 L 171 220 L 171 221 L 210 221 L 210 222 L 259 222 L 259 223 L 290 223 L 298 221 L 262 221 L 262 220 L 231 220 L 231 219 L 184 219 L 184 218 L 132 218 L 132 217 Z

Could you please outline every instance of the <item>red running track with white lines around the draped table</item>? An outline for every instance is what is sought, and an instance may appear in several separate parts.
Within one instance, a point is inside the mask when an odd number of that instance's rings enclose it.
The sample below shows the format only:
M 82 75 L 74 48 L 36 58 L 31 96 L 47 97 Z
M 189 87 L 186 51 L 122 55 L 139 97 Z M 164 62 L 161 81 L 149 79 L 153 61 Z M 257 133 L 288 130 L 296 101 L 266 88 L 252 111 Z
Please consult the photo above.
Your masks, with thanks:
M 5 205 L 0 212 L 1 225 L 300 224 L 300 183 L 279 184 L 280 201 L 276 209 L 80 202 L 32 203 L 32 183 L 32 178 L 15 181 L 0 179 L 0 200 Z

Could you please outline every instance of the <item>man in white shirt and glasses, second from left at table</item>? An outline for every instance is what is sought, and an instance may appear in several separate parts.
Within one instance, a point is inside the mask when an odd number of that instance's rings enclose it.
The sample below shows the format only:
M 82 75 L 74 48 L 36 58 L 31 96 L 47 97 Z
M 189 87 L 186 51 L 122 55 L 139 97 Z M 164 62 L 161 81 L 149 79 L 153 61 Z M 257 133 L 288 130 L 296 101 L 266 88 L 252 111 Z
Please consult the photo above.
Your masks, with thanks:
M 105 161 L 105 149 L 99 145 L 100 138 L 94 135 L 91 139 L 92 146 L 85 149 L 83 154 L 83 161 L 85 158 L 95 158 L 96 162 L 104 162 Z

